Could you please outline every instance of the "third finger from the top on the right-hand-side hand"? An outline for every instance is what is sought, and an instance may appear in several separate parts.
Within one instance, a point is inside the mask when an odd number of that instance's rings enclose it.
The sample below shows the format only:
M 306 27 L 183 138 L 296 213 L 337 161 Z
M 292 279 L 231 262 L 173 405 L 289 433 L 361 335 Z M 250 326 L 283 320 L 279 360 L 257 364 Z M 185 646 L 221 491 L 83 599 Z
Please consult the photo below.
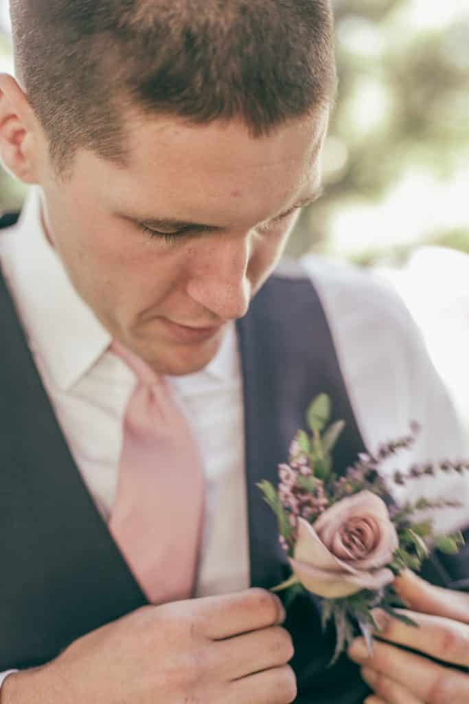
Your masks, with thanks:
M 384 674 L 427 704 L 469 702 L 469 676 L 463 672 L 380 641 L 374 642 L 371 656 L 361 638 L 354 641 L 348 653 L 354 662 Z

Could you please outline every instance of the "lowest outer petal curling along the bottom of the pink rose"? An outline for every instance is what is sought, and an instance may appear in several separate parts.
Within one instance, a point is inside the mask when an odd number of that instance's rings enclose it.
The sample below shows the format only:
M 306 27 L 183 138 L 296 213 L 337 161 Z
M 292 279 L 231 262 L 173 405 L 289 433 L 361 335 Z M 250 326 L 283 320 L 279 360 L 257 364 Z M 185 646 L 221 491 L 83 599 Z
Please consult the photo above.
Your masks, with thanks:
M 376 570 L 376 572 L 338 574 L 305 565 L 304 562 L 292 558 L 290 558 L 290 565 L 308 591 L 329 599 L 351 596 L 362 589 L 378 591 L 394 579 L 394 574 L 387 569 Z

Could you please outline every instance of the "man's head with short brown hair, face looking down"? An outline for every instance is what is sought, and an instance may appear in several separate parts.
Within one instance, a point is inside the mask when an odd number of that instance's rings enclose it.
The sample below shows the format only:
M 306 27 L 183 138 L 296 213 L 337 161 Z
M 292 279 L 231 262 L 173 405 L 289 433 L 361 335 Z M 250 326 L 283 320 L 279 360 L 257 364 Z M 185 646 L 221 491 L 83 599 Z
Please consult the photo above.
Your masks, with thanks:
M 203 367 L 319 189 L 328 2 L 11 0 L 11 13 L 4 163 L 39 184 L 49 239 L 111 334 L 158 371 Z

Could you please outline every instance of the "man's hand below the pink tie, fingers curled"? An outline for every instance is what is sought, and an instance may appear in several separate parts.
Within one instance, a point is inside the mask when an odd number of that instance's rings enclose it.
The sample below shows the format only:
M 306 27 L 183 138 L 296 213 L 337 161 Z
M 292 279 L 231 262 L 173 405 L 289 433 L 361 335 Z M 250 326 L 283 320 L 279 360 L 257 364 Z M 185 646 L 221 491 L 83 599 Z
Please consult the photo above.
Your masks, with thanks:
M 1 704 L 289 704 L 284 617 L 262 589 L 146 606 L 11 674 Z

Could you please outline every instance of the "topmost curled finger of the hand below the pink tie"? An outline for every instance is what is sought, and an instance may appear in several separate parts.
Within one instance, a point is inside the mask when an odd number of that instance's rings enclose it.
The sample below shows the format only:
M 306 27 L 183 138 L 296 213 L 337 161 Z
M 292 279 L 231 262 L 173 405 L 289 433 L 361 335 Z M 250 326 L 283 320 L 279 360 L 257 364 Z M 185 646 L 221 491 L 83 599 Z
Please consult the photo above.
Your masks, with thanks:
M 285 620 L 285 610 L 275 594 L 248 589 L 197 600 L 195 628 L 212 640 L 267 628 Z

